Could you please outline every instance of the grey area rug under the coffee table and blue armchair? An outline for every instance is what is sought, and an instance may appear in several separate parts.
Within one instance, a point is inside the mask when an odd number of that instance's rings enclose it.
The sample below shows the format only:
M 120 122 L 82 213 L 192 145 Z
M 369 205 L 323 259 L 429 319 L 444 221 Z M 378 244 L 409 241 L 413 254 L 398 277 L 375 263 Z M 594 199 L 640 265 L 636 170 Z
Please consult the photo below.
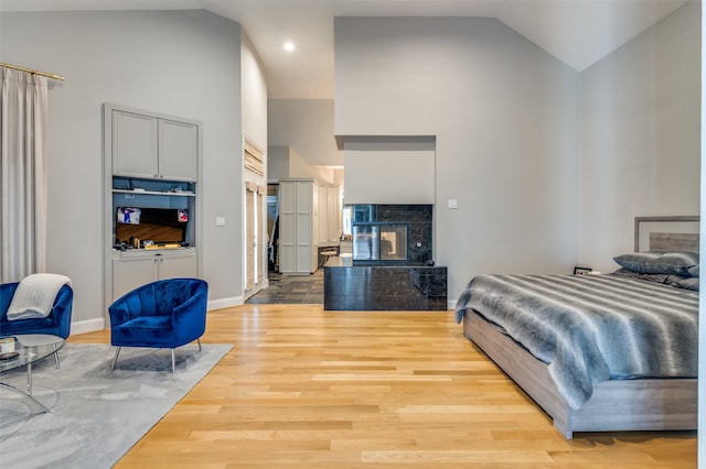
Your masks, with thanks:
M 50 414 L 0 389 L 0 466 L 6 468 L 109 468 L 196 385 L 231 350 L 194 343 L 175 351 L 67 343 L 34 364 L 32 395 Z M 24 369 L 0 381 L 26 390 Z

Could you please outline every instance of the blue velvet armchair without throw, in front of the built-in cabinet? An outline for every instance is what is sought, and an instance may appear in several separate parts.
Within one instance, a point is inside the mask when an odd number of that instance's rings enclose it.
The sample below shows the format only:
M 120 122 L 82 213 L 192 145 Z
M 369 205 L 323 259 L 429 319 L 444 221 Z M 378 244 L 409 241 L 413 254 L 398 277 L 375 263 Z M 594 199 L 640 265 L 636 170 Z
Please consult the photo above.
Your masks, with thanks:
M 208 284 L 200 279 L 167 279 L 126 293 L 108 307 L 110 343 L 122 347 L 168 348 L 172 350 L 196 340 L 206 330 Z

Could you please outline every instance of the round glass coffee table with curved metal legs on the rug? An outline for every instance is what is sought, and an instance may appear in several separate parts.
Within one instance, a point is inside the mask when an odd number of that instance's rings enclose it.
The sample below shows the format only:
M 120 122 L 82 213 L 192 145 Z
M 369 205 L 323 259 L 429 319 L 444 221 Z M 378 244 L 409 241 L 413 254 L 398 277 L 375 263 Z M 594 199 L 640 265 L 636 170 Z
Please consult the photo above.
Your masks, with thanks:
M 15 392 L 34 404 L 40 406 L 44 412 L 51 412 L 46 406 L 32 396 L 32 363 L 54 355 L 56 368 L 58 368 L 58 358 L 56 352 L 61 349 L 65 341 L 61 337 L 50 336 L 45 334 L 15 334 L 14 352 L 6 352 L 0 355 L 0 379 L 6 371 L 17 368 L 26 367 L 26 392 L 0 381 L 0 388 Z

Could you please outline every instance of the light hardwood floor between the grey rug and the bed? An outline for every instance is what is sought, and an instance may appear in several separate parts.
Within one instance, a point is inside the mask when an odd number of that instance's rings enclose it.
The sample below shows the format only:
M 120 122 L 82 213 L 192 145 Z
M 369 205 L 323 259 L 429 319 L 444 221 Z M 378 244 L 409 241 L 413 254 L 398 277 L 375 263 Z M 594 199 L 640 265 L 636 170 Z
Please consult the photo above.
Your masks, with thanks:
M 696 432 L 564 439 L 451 312 L 245 305 L 202 342 L 233 349 L 116 468 L 696 467 Z

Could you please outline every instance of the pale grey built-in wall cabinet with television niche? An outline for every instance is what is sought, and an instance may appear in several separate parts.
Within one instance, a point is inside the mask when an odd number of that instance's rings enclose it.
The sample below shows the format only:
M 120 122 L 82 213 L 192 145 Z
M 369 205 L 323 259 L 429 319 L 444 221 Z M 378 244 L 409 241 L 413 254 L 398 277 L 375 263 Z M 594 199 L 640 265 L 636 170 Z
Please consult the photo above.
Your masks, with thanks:
M 197 121 L 104 105 L 106 305 L 156 280 L 199 276 L 201 135 Z M 183 210 L 182 244 L 125 249 L 118 207 L 139 207 L 143 217 L 148 209 Z

